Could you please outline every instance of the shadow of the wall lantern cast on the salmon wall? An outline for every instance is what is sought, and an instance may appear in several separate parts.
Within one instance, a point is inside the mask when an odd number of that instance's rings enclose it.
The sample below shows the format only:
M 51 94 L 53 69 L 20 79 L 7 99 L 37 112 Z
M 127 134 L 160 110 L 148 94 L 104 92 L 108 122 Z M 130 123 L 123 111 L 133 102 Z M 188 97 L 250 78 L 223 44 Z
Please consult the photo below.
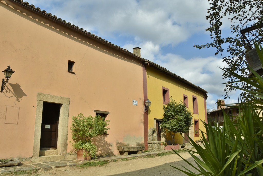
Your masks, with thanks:
M 24 91 L 21 89 L 21 86 L 19 84 L 11 84 L 11 83 L 8 83 L 9 86 L 11 86 L 12 90 L 14 92 L 12 92 L 11 89 L 9 89 L 9 87 L 6 85 L 5 89 L 4 89 L 4 92 L 5 93 L 9 93 L 9 94 L 13 94 L 12 96 L 8 97 L 6 94 L 6 97 L 8 98 L 11 98 L 11 97 L 15 97 L 16 100 L 18 102 L 20 102 L 20 100 L 22 100 L 22 97 L 27 97 L 27 95 L 24 93 Z

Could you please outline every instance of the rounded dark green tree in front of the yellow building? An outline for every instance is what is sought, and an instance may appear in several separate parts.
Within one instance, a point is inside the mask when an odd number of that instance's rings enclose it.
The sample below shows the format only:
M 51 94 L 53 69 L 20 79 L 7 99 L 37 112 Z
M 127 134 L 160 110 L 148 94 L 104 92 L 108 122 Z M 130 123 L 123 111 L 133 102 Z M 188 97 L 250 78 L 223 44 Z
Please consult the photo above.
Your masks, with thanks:
M 193 124 L 193 115 L 182 101 L 178 103 L 172 97 L 170 102 L 163 106 L 163 110 L 164 117 L 160 127 L 170 133 L 174 144 L 174 133 L 186 133 Z

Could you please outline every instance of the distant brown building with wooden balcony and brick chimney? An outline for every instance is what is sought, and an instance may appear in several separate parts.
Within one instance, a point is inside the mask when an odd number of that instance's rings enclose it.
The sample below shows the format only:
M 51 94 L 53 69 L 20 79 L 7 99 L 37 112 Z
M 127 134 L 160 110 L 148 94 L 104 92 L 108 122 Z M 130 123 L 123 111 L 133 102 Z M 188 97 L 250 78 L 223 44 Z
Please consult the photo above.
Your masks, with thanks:
M 211 122 L 213 126 L 215 123 L 218 123 L 220 126 L 224 124 L 224 114 L 223 114 L 222 109 L 225 111 L 226 114 L 229 115 L 231 121 L 234 120 L 236 116 L 239 115 L 239 109 L 232 108 L 232 107 L 226 107 L 225 100 L 218 99 L 216 103 L 217 103 L 217 109 L 212 110 L 211 112 L 208 112 L 208 115 L 207 115 L 208 122 Z

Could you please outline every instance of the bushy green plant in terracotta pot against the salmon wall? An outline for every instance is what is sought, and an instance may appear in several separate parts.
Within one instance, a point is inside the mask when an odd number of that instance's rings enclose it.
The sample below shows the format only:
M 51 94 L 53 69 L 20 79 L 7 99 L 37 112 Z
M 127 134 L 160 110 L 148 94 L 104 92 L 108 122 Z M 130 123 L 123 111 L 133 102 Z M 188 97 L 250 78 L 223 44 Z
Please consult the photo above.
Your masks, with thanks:
M 97 147 L 92 143 L 92 138 L 106 134 L 109 128 L 109 120 L 105 120 L 96 115 L 85 117 L 82 113 L 72 116 L 72 144 L 77 151 L 78 160 L 90 160 L 96 157 Z

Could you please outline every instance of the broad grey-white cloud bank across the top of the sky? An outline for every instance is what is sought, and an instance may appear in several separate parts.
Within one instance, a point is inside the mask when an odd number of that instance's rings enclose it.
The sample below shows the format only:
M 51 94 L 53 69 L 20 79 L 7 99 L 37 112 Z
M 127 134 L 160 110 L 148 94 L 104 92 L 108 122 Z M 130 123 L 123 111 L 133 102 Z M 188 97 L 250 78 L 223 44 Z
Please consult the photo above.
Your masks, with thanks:
M 30 0 L 29 3 L 100 37 L 128 35 L 140 43 L 160 46 L 186 41 L 208 26 L 205 0 Z

